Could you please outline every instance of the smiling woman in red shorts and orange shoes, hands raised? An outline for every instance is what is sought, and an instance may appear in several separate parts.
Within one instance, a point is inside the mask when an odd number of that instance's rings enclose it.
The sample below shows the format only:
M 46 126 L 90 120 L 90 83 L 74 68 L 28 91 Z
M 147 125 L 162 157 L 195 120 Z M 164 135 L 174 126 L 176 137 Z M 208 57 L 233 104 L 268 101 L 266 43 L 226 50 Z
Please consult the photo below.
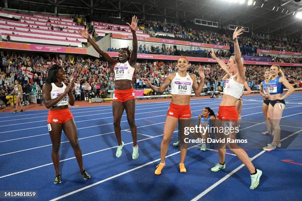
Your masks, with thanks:
M 204 84 L 203 67 L 199 67 L 198 74 L 200 76 L 200 84 L 198 86 L 197 79 L 194 74 L 189 74 L 189 60 L 187 57 L 180 57 L 177 61 L 178 72 L 171 73 L 167 76 L 164 83 L 160 87 L 151 85 L 150 80 L 143 78 L 143 81 L 151 87 L 155 92 L 163 93 L 171 84 L 172 101 L 167 112 L 166 122 L 164 125 L 164 135 L 160 145 L 160 164 L 155 170 L 155 174 L 161 174 L 161 170 L 165 167 L 165 158 L 169 148 L 169 141 L 172 137 L 174 129 L 180 119 L 190 119 L 190 97 L 192 89 L 196 96 L 199 96 Z M 183 140 L 182 142 L 183 143 Z M 187 147 L 181 147 L 181 160 L 179 164 L 180 172 L 187 172 L 185 167 L 185 158 L 187 155 Z

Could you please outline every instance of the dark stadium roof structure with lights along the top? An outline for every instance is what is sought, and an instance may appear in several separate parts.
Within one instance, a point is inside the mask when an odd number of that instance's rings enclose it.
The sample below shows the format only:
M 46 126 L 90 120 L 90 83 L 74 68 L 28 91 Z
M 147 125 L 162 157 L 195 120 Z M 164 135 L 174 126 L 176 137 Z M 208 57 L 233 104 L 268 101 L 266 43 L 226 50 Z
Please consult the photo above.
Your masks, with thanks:
M 3 3 L 4 1 L 4 3 Z M 6 0 L 2 0 L 4 7 Z M 8 8 L 59 14 L 131 13 L 151 19 L 215 21 L 250 31 L 302 38 L 301 0 L 7 0 Z M 248 5 L 248 2 L 250 5 Z M 296 15 L 293 15 L 296 14 Z M 108 16 L 108 15 L 107 15 Z M 170 19 L 170 20 L 169 20 Z

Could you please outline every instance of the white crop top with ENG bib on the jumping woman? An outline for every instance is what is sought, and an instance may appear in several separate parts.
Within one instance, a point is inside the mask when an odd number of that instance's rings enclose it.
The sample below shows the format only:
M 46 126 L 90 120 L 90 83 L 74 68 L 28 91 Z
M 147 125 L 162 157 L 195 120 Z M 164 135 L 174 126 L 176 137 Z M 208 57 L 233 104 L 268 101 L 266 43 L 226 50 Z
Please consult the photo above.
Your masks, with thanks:
M 132 80 L 135 68 L 131 67 L 129 62 L 116 63 L 114 66 L 114 80 Z

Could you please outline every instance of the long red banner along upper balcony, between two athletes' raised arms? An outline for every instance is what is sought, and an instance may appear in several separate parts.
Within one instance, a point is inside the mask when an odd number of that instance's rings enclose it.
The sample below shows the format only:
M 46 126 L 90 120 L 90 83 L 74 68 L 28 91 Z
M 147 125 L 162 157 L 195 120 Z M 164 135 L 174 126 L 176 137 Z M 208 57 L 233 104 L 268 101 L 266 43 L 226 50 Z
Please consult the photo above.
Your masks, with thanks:
M 113 38 L 129 39 L 129 40 L 132 39 L 132 35 L 112 33 L 111 36 Z M 196 46 L 196 47 L 208 47 L 208 48 L 229 50 L 229 46 L 213 45 L 213 44 L 206 44 L 206 43 L 199 43 L 199 42 L 189 42 L 189 41 L 182 41 L 182 40 L 172 40 L 172 39 L 163 39 L 163 38 L 155 38 L 155 37 L 140 37 L 140 36 L 138 36 L 137 39 L 139 41 L 147 41 L 147 42 L 159 42 L 159 43 L 167 43 L 167 44 L 175 44 L 175 45 L 188 45 L 188 46 Z

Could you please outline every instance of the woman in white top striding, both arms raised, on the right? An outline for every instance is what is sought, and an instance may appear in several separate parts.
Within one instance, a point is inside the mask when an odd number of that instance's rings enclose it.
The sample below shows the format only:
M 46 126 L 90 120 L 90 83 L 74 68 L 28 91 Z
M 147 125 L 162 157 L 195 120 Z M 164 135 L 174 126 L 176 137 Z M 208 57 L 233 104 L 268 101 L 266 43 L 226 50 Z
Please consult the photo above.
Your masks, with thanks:
M 232 127 L 234 127 L 236 123 L 234 123 L 233 121 L 234 120 L 237 121 L 238 119 L 238 112 L 235 108 L 235 104 L 240 98 L 240 96 L 242 95 L 242 89 L 246 79 L 243 62 L 241 60 L 241 52 L 237 40 L 237 36 L 241 35 L 242 33 L 243 33 L 243 28 L 239 30 L 238 28 L 236 28 L 233 33 L 235 56 L 229 58 L 227 65 L 225 65 L 224 62 L 220 61 L 215 56 L 215 54 L 213 54 L 214 51 L 212 50 L 213 59 L 215 59 L 224 70 L 231 73 L 231 79 L 228 82 L 227 92 L 224 93 L 223 95 L 223 99 L 219 105 L 219 111 L 217 114 L 217 118 L 222 120 L 222 122 L 217 123 L 218 125 L 216 126 L 224 126 L 226 120 L 228 122 L 230 121 Z M 222 135 L 225 136 L 225 134 Z M 231 134 L 230 136 L 235 138 L 234 134 Z M 226 164 L 225 164 L 226 149 L 224 148 L 225 146 L 227 146 L 229 150 L 234 152 L 237 155 L 237 157 L 242 161 L 242 163 L 249 169 L 251 173 L 250 189 L 255 189 L 259 184 L 262 171 L 254 167 L 251 160 L 249 159 L 249 156 L 236 143 L 227 143 L 225 145 L 222 145 L 221 148 L 218 149 L 219 163 L 217 163 L 215 167 L 212 167 L 211 170 L 219 171 L 220 169 L 226 168 Z

